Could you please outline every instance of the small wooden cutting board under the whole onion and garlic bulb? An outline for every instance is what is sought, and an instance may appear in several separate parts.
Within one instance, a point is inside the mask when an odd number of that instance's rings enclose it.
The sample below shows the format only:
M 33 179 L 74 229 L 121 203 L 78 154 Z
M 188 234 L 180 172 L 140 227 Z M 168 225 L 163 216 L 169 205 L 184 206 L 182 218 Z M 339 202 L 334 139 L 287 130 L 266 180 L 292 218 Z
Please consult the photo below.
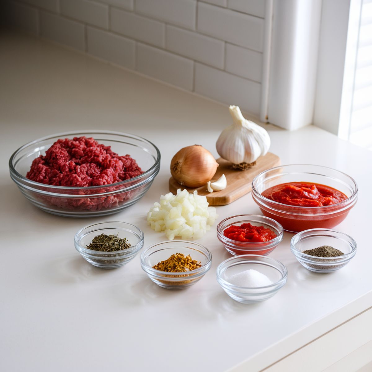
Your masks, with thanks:
M 251 183 L 257 174 L 266 169 L 270 169 L 280 165 L 280 158 L 272 153 L 267 153 L 256 160 L 256 165 L 248 170 L 231 169 L 231 163 L 222 158 L 217 159 L 219 164 L 216 174 L 212 178 L 212 182 L 219 179 L 224 173 L 227 179 L 227 187 L 221 191 L 209 193 L 206 185 L 192 189 L 190 187 L 181 186 L 173 177 L 169 179 L 169 191 L 173 194 L 177 193 L 177 189 L 186 189 L 188 192 L 198 190 L 199 195 L 207 197 L 209 205 L 226 205 L 235 201 L 243 195 L 246 195 L 252 190 Z

